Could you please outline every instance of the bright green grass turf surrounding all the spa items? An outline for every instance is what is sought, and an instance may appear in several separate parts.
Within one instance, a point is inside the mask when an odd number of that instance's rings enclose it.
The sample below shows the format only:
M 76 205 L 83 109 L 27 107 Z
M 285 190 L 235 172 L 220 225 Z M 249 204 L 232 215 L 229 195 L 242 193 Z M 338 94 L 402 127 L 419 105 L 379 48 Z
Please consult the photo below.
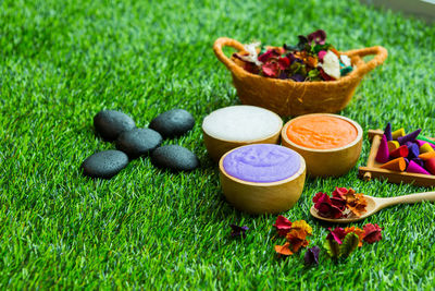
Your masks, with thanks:
M 364 129 L 424 129 L 435 136 L 435 28 L 358 1 L 0 1 L 0 287 L 431 289 L 435 279 L 435 206 L 391 207 L 364 222 L 383 240 L 347 260 L 303 266 L 303 253 L 277 259 L 276 216 L 250 216 L 223 198 L 202 143 L 202 118 L 238 104 L 231 74 L 216 60 L 220 36 L 241 43 L 296 43 L 323 28 L 348 50 L 382 45 L 384 66 L 368 75 L 340 112 Z M 227 51 L 229 52 L 229 50 Z M 194 150 L 201 167 L 167 173 L 134 160 L 109 181 L 82 175 L 92 153 L 113 148 L 96 137 L 92 117 L 119 109 L 147 126 L 184 108 L 197 120 L 164 144 Z M 365 134 L 364 134 L 365 136 Z M 365 140 L 357 166 L 365 163 Z M 426 189 L 364 183 L 357 167 L 338 179 L 309 179 L 284 213 L 313 227 L 311 197 L 334 186 L 376 196 Z M 245 240 L 229 225 L 246 225 Z

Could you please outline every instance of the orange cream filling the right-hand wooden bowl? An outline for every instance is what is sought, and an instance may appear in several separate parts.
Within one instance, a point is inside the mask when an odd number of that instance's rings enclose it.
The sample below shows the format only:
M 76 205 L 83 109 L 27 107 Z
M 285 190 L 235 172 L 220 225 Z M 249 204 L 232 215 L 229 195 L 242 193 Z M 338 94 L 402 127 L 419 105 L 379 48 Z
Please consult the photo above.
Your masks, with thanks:
M 315 149 L 346 146 L 358 136 L 350 122 L 327 114 L 299 117 L 288 124 L 287 137 L 293 143 Z

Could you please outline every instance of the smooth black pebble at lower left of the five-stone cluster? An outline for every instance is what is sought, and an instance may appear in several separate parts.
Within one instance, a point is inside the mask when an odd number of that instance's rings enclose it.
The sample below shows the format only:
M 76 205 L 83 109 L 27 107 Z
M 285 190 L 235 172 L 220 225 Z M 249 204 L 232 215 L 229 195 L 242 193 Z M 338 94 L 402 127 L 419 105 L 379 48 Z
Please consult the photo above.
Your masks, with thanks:
M 128 157 L 120 150 L 103 150 L 94 154 L 82 163 L 83 173 L 91 178 L 110 179 L 128 163 Z

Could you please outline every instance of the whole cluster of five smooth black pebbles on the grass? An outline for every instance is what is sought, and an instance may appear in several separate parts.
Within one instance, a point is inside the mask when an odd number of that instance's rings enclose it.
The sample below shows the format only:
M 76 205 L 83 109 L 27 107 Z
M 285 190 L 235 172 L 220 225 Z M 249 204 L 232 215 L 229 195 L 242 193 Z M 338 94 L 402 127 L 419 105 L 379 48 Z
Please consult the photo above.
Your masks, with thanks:
M 151 157 L 152 165 L 171 171 L 191 171 L 199 166 L 197 156 L 178 145 L 160 146 L 164 138 L 181 136 L 195 125 L 194 117 L 184 109 L 173 109 L 154 118 L 149 129 L 136 128 L 135 121 L 121 111 L 103 110 L 94 117 L 96 132 L 116 149 L 103 150 L 88 157 L 82 169 L 85 175 L 110 179 L 128 161 Z

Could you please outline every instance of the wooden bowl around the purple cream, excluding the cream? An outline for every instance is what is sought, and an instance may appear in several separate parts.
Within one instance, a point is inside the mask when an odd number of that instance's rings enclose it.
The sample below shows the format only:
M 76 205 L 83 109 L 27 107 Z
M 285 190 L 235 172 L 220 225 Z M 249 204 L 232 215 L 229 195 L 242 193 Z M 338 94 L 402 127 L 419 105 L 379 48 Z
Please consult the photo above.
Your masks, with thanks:
M 223 165 L 225 157 L 238 148 L 226 153 L 219 162 L 221 185 L 226 199 L 237 209 L 256 215 L 277 214 L 291 208 L 299 199 L 306 181 L 303 158 L 295 153 L 300 159 L 300 167 L 287 179 L 266 183 L 248 182 L 229 175 Z

